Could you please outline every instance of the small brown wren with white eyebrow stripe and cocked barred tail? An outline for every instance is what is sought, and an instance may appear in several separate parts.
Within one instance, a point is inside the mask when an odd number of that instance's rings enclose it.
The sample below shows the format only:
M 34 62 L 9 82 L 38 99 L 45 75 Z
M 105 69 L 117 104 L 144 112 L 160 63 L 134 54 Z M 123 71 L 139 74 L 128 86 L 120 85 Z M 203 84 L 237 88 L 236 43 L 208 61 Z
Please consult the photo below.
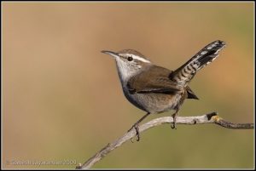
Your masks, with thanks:
M 118 53 L 102 51 L 104 54 L 112 55 L 115 59 L 127 100 L 147 112 L 131 127 L 137 131 L 137 140 L 139 140 L 138 123 L 151 113 L 174 110 L 172 128 L 175 128 L 177 111 L 183 101 L 185 99 L 198 100 L 189 88 L 189 82 L 195 76 L 196 71 L 201 70 L 218 57 L 218 52 L 224 46 L 225 43 L 219 40 L 208 44 L 175 71 L 154 66 L 148 58 L 136 50 L 125 49 Z

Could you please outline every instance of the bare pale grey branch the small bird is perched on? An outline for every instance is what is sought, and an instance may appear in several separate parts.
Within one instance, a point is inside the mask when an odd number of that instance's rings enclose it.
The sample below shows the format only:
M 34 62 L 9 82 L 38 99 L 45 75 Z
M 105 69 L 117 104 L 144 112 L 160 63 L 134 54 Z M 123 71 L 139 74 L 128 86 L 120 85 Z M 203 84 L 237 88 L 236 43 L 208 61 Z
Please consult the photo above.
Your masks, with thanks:
M 148 123 L 144 123 L 139 126 L 139 131 L 142 133 L 148 128 L 153 128 L 165 123 L 172 123 L 172 117 L 159 117 L 149 121 Z M 224 128 L 236 128 L 236 129 L 252 129 L 254 128 L 253 123 L 230 123 L 225 121 L 223 118 L 218 117 L 216 112 L 212 112 L 203 116 L 197 117 L 177 117 L 177 124 L 202 124 L 202 123 L 215 123 Z M 96 162 L 102 160 L 110 151 L 113 151 L 120 145 L 124 144 L 127 140 L 131 140 L 132 137 L 136 136 L 136 131 L 132 129 L 130 132 L 125 133 L 122 137 L 117 140 L 114 140 L 112 143 L 108 143 L 105 147 L 102 148 L 101 151 L 98 151 L 93 157 L 90 157 L 84 164 L 79 163 L 79 166 L 76 168 L 85 169 L 91 168 Z

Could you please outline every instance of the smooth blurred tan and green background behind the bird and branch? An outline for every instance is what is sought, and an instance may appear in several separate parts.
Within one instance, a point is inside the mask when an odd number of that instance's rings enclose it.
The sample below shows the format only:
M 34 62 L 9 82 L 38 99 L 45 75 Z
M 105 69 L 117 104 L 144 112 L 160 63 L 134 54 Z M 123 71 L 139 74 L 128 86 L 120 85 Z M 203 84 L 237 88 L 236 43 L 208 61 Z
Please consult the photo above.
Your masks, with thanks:
M 253 3 L 2 5 L 3 168 L 74 168 L 14 163 L 84 162 L 144 115 L 125 99 L 103 49 L 134 48 L 174 70 L 224 40 L 218 60 L 190 83 L 200 100 L 186 100 L 179 114 L 253 123 Z M 163 125 L 94 168 L 253 168 L 253 151 L 253 130 Z

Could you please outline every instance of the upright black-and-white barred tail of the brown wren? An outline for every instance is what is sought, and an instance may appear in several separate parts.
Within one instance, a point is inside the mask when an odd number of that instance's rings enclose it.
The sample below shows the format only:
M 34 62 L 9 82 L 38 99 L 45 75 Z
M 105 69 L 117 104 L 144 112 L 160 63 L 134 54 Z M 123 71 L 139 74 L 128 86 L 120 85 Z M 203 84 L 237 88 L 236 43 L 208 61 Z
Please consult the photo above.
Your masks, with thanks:
M 210 64 L 218 57 L 218 52 L 225 47 L 224 41 L 214 41 L 208 44 L 205 48 L 202 48 L 200 52 L 195 54 L 189 61 L 183 66 L 179 67 L 176 71 L 170 74 L 170 79 L 180 84 L 180 86 L 186 86 L 189 81 L 195 76 L 196 71 Z

